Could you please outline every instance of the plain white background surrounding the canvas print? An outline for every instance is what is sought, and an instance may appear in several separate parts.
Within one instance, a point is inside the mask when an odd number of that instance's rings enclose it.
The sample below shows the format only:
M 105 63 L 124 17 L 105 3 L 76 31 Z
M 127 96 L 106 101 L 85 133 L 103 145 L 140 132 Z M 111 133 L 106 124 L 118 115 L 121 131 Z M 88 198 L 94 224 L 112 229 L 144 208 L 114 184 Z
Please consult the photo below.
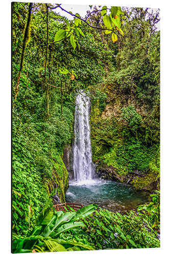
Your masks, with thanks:
M 24 2 L 24 1 L 16 1 Z M 26 1 L 31 2 L 31 1 Z M 36 2 L 36 1 L 35 1 Z M 46 3 L 46 1 L 37 1 Z M 47 1 L 48 2 L 48 1 Z M 48 3 L 57 3 L 49 1 Z M 161 17 L 161 248 L 124 249 L 103 251 L 50 252 L 38 255 L 168 255 L 169 253 L 169 1 L 158 0 L 76 0 L 62 1 L 63 4 L 112 5 L 127 7 L 160 8 Z M 0 208 L 0 253 L 10 255 L 11 251 L 11 1 L 1 1 L 1 208 Z M 21 254 L 26 255 L 26 254 Z

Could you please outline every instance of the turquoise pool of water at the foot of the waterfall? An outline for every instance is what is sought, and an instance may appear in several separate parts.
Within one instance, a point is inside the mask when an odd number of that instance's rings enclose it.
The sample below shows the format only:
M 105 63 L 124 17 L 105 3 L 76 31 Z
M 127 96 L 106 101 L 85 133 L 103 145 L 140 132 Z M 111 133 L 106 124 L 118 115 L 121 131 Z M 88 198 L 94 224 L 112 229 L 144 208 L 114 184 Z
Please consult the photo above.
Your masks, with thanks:
M 70 182 L 65 200 L 67 203 L 75 202 L 84 206 L 95 203 L 110 211 L 126 211 L 148 202 L 150 194 L 117 182 L 92 180 L 86 184 Z

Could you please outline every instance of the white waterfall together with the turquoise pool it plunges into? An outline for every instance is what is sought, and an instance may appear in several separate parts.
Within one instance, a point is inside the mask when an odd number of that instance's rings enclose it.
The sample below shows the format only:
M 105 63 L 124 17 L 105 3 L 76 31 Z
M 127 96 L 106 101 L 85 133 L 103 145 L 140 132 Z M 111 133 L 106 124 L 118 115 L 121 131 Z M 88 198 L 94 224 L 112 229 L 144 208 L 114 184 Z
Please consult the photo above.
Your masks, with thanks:
M 77 94 L 75 106 L 73 148 L 75 180 L 69 181 L 69 188 L 65 195 L 66 202 L 80 203 L 84 206 L 95 203 L 110 211 L 124 211 L 149 201 L 148 192 L 136 191 L 131 186 L 94 178 L 89 115 L 90 99 L 81 90 Z

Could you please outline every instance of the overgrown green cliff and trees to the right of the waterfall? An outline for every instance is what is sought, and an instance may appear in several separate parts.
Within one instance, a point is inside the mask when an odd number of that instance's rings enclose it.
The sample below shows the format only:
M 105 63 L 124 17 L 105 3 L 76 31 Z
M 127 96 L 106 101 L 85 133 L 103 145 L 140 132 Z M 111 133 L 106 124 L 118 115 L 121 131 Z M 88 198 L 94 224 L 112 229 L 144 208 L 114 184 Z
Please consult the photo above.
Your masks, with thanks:
M 119 176 L 136 169 L 147 175 L 131 183 L 140 189 L 159 179 L 159 18 L 142 8 L 124 14 L 126 37 L 118 39 L 116 65 L 108 64 L 104 83 L 93 87 L 92 157 L 98 169 L 113 166 Z

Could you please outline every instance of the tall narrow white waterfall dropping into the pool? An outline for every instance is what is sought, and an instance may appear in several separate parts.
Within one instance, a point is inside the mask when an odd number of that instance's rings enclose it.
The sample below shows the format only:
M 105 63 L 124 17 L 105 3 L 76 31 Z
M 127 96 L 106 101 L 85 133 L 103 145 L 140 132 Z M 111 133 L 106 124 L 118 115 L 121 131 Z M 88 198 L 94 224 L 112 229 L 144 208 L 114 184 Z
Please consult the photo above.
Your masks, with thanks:
M 91 154 L 89 114 L 90 99 L 83 90 L 80 90 L 76 97 L 75 108 L 73 169 L 75 180 L 82 184 L 90 182 L 94 172 Z

